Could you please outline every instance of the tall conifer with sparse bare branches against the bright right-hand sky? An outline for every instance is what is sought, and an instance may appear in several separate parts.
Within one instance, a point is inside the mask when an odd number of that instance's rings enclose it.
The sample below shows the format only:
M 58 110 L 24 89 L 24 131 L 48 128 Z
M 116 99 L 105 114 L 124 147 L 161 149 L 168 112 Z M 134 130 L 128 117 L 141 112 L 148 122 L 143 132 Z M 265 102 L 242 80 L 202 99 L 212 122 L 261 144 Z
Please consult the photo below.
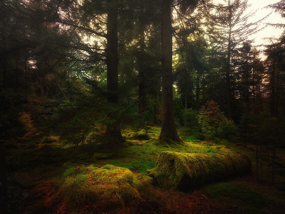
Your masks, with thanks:
M 234 69 L 235 63 L 234 56 L 237 54 L 239 48 L 244 41 L 247 40 L 249 35 L 259 31 L 259 22 L 248 23 L 248 19 L 255 14 L 251 12 L 244 15 L 244 11 L 248 8 L 247 0 L 228 0 L 225 5 L 218 5 L 215 8 L 216 15 L 213 16 L 213 22 L 216 25 L 217 35 L 213 35 L 212 39 L 218 45 L 221 45 L 221 50 L 224 50 L 224 64 L 223 69 L 225 72 L 225 88 L 226 88 L 226 103 L 227 103 L 227 116 L 233 117 L 232 103 L 234 95 Z M 210 30 L 210 32 L 216 32 Z

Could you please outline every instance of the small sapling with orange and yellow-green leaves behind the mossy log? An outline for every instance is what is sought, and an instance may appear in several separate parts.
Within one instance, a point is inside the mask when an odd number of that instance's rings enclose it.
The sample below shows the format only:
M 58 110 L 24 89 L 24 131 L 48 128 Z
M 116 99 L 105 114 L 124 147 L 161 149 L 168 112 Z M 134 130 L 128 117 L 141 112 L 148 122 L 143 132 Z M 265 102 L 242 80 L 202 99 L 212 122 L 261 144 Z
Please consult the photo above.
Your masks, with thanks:
M 198 123 L 202 127 L 202 131 L 205 132 L 208 145 L 210 135 L 216 132 L 220 122 L 225 119 L 225 116 L 222 114 L 216 102 L 208 100 L 199 110 L 197 118 Z

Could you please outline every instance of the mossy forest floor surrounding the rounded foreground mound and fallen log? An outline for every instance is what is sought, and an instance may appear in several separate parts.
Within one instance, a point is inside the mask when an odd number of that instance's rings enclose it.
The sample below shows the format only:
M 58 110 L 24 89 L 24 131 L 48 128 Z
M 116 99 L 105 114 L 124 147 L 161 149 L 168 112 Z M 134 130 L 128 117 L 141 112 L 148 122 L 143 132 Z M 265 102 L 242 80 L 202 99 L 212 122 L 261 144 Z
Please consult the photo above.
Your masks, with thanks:
M 124 130 L 127 135 L 131 130 Z M 262 161 L 259 179 L 256 173 L 255 146 L 243 147 L 241 143 L 230 143 L 215 139 L 213 146 L 207 146 L 197 130 L 183 133 L 185 145 L 159 145 L 155 141 L 160 132 L 159 127 L 148 130 L 150 140 L 128 140 L 123 148 L 94 149 L 94 144 L 87 143 L 74 148 L 66 140 L 52 136 L 53 142 L 43 143 L 42 134 L 28 134 L 17 142 L 8 144 L 7 169 L 10 180 L 16 180 L 22 190 L 28 192 L 26 205 L 20 208 L 21 213 L 136 213 L 136 214 L 184 214 L 184 213 L 276 213 L 285 210 L 285 152 L 275 150 L 275 176 L 272 185 L 272 150 L 262 145 Z M 50 137 L 49 137 L 50 138 Z M 200 140 L 199 140 L 200 139 Z M 161 151 L 191 153 L 214 153 L 218 145 L 226 145 L 234 152 L 247 154 L 252 161 L 250 173 L 242 176 L 228 177 L 204 183 L 187 191 L 167 190 L 151 181 L 139 189 L 141 200 L 125 203 L 123 207 L 96 211 L 88 204 L 70 205 L 58 195 L 63 183 L 63 174 L 67 168 L 74 166 L 88 167 L 95 164 L 102 167 L 112 164 L 125 167 L 135 176 L 147 177 L 146 169 L 155 166 Z M 260 150 L 259 150 L 260 152 Z M 269 167 L 268 167 L 269 165 Z M 94 204 L 93 204 L 94 205 Z

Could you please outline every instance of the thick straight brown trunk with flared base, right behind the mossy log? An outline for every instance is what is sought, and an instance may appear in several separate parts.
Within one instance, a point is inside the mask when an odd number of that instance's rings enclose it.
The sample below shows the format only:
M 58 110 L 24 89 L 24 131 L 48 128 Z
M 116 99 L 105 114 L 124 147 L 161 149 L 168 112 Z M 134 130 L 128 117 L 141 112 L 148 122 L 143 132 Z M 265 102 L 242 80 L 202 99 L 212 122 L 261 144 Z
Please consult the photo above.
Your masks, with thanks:
M 171 4 L 172 0 L 161 2 L 162 125 L 158 140 L 182 142 L 176 131 L 173 109 Z

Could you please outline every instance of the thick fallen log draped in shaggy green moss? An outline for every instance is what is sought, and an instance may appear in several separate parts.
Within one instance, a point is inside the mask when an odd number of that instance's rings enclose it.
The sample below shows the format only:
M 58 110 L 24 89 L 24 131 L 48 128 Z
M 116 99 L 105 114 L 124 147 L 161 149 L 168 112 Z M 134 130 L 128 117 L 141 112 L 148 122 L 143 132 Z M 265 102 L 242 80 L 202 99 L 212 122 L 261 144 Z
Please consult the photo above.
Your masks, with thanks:
M 156 167 L 148 172 L 165 188 L 184 189 L 205 181 L 243 174 L 250 169 L 251 161 L 244 154 L 162 152 Z

